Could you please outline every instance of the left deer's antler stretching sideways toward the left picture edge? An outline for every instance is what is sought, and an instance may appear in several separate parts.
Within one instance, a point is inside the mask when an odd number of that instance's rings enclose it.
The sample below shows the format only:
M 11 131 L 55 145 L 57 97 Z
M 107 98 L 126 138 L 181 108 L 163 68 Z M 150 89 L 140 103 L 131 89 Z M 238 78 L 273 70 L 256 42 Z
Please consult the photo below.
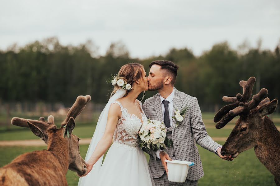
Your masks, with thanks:
M 21 126 L 21 127 L 29 127 L 27 124 L 27 121 L 29 121 L 30 123 L 32 123 L 33 125 L 39 127 L 41 130 L 47 130 L 50 126 L 55 126 L 54 125 L 54 117 L 53 116 L 49 116 L 48 117 L 48 122 L 45 122 L 45 118 L 44 117 L 40 117 L 38 120 L 33 120 L 33 119 L 24 119 L 24 118 L 20 118 L 20 117 L 13 117 L 11 120 L 11 123 L 13 125 L 16 126 Z

